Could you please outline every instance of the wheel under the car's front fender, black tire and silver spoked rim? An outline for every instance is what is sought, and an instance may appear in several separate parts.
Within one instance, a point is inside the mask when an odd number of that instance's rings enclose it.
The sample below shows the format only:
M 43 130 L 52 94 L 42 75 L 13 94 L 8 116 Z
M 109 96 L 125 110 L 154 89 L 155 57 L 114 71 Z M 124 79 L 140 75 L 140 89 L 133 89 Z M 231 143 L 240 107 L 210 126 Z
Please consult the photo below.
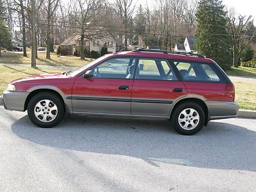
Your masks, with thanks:
M 35 110 L 36 110 L 35 107 L 36 107 L 36 105 L 40 101 L 42 101 L 42 104 L 44 104 L 44 100 L 51 100 L 52 101 L 49 104 L 49 106 L 50 106 L 49 109 L 42 109 L 42 110 L 45 110 L 46 113 L 47 112 L 51 113 L 51 111 L 50 111 L 51 110 L 51 106 L 55 106 L 55 108 L 57 108 L 57 110 L 53 110 L 52 111 L 54 118 L 51 118 L 50 115 L 47 116 L 45 114 L 46 121 L 50 119 L 49 122 L 43 122 L 43 121 L 40 120 L 41 115 L 39 115 L 38 117 L 36 117 L 36 115 L 35 115 Z M 40 102 L 40 104 L 41 104 L 41 102 Z M 47 110 L 49 110 L 49 111 L 47 111 Z M 55 112 L 55 111 L 57 111 L 57 112 Z M 65 114 L 65 106 L 63 104 L 63 101 L 60 99 L 60 97 L 58 97 L 54 93 L 50 93 L 50 92 L 38 93 L 35 96 L 33 96 L 32 99 L 28 103 L 28 116 L 29 116 L 29 119 L 31 120 L 31 122 L 33 122 L 33 124 L 35 124 L 38 127 L 42 127 L 42 128 L 54 127 L 54 126 L 60 124 L 61 120 L 63 119 L 64 114 Z

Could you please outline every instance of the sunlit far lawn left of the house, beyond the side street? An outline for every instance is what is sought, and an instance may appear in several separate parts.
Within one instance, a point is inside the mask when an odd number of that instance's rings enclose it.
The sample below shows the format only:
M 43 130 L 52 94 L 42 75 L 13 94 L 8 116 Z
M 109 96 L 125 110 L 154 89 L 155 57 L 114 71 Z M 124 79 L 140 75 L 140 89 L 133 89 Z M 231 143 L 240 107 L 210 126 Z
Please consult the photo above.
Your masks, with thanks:
M 67 66 L 67 67 L 81 67 L 90 62 L 90 58 L 81 60 L 76 56 L 58 56 L 55 52 L 51 52 L 51 60 L 45 59 L 46 52 L 38 52 L 38 58 L 36 59 L 36 65 L 49 65 L 49 66 Z M 8 52 L 2 54 L 0 63 L 19 63 L 19 64 L 31 64 L 31 53 L 28 53 L 28 57 L 22 56 L 15 52 Z

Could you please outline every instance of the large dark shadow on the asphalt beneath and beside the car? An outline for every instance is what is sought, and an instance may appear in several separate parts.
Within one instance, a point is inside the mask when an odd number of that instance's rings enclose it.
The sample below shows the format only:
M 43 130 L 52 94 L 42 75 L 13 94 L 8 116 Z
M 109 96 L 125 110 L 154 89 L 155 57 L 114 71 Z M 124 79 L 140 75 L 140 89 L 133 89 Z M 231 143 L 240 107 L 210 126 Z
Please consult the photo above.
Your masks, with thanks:
M 42 129 L 24 116 L 12 131 L 39 145 L 136 157 L 153 166 L 163 162 L 256 172 L 256 132 L 220 122 L 182 136 L 165 120 L 71 116 L 56 128 Z

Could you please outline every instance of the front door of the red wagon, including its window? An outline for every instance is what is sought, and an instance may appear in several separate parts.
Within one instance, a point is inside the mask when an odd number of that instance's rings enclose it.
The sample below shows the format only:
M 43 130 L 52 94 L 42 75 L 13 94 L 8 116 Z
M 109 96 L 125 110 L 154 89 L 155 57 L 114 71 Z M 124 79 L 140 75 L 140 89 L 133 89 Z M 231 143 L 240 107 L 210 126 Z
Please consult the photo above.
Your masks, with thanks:
M 110 58 L 89 69 L 93 77 L 77 77 L 72 92 L 73 111 L 130 115 L 135 60 Z

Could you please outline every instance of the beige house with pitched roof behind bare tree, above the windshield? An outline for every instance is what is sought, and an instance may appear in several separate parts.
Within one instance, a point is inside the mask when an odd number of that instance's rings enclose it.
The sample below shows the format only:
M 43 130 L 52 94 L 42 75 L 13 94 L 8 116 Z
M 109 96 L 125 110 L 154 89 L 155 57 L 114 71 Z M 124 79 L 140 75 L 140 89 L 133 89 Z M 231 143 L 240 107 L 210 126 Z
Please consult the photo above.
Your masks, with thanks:
M 64 42 L 60 44 L 61 46 L 61 54 L 63 55 L 73 55 L 75 51 L 80 55 L 81 51 L 81 35 L 71 35 Z M 84 40 L 84 47 L 87 51 L 97 51 L 100 54 L 100 51 L 104 44 L 108 45 L 108 52 L 115 53 L 116 52 L 116 42 L 113 38 L 109 37 L 105 40 Z

